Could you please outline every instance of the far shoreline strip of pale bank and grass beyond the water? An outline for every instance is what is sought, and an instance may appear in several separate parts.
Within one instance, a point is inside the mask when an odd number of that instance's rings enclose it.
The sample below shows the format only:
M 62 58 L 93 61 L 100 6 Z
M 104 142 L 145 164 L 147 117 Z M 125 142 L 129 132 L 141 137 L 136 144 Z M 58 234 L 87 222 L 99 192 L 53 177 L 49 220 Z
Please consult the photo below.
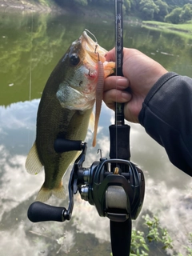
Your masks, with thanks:
M 90 8 L 89 6 L 76 6 L 74 9 L 70 7 L 61 7 L 57 6 L 53 2 L 51 6 L 45 6 L 39 4 L 37 2 L 27 1 L 27 0 L 0 0 L 0 13 L 24 13 L 24 14 L 31 14 L 32 12 L 37 14 L 78 14 L 82 15 L 84 18 L 99 18 L 105 20 L 114 20 L 114 11 L 110 10 L 103 10 L 102 7 L 97 6 Z M 137 17 L 125 17 L 124 22 L 128 23 L 136 23 L 143 27 L 149 27 L 153 30 L 170 30 L 173 32 L 180 32 L 184 34 L 190 34 L 192 31 L 191 24 L 187 27 L 182 27 L 185 24 L 171 24 L 171 23 L 164 23 L 164 22 L 156 22 L 156 21 L 142 21 Z

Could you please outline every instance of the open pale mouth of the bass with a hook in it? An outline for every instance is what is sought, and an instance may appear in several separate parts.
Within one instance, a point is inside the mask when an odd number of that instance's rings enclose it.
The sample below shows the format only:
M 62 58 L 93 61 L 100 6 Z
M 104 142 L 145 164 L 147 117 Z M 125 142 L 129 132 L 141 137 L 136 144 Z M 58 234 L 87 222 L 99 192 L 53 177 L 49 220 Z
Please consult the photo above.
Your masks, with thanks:
M 90 33 L 90 31 L 88 32 Z M 92 33 L 90 34 L 94 36 L 94 34 Z M 91 58 L 93 58 L 94 61 L 96 62 L 98 62 L 98 60 L 102 62 L 106 61 L 105 55 L 107 53 L 107 50 L 99 46 L 97 41 L 94 42 L 94 40 L 90 38 L 90 36 L 86 33 L 86 30 L 82 32 L 81 41 L 82 41 L 82 48 L 86 50 L 88 54 L 90 54 Z

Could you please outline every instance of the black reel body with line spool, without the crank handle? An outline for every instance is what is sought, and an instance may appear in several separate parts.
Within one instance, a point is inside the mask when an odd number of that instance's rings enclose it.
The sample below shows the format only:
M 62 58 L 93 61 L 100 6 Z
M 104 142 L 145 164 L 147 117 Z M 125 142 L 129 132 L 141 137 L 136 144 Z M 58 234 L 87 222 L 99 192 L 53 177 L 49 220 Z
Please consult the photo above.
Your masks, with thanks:
M 83 178 L 85 185 L 81 184 L 81 197 L 94 205 L 100 216 L 116 222 L 138 217 L 145 181 L 142 170 L 132 162 L 101 158 L 89 170 L 83 171 Z

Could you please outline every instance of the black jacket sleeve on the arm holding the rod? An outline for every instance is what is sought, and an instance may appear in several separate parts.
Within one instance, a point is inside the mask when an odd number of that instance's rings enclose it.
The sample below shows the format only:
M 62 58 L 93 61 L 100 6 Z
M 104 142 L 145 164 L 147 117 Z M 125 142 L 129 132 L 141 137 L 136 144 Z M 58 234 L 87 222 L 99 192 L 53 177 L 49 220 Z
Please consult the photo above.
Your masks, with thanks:
M 138 119 L 164 146 L 170 162 L 192 176 L 192 79 L 163 75 L 147 94 Z

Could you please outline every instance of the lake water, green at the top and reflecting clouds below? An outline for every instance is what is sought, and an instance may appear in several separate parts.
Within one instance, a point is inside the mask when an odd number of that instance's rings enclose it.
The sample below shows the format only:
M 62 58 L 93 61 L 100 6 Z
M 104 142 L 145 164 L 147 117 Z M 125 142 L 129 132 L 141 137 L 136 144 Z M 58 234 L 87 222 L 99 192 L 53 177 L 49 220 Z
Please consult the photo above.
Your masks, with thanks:
M 35 139 L 36 114 L 43 87 L 58 60 L 84 29 L 110 50 L 114 46 L 114 22 L 74 15 L 7 14 L 0 16 L 0 255 L 110 255 L 109 220 L 98 216 L 94 206 L 75 196 L 70 222 L 32 223 L 27 209 L 44 180 L 26 173 L 26 155 Z M 125 22 L 124 46 L 142 50 L 167 70 L 191 75 L 192 36 L 163 33 Z M 99 123 L 98 143 L 91 148 L 84 166 L 98 160 L 97 150 L 109 158 L 108 126 L 114 113 L 104 106 Z M 174 167 L 165 150 L 142 126 L 130 124 L 131 160 L 144 171 L 146 196 L 142 213 L 133 225 L 142 229 L 142 215 L 157 215 L 174 240 L 174 249 L 186 254 L 192 231 L 191 178 Z M 71 170 L 71 166 L 70 166 Z M 64 177 L 67 187 L 70 171 Z M 50 198 L 48 203 L 68 206 Z M 172 255 L 150 246 L 149 255 Z

